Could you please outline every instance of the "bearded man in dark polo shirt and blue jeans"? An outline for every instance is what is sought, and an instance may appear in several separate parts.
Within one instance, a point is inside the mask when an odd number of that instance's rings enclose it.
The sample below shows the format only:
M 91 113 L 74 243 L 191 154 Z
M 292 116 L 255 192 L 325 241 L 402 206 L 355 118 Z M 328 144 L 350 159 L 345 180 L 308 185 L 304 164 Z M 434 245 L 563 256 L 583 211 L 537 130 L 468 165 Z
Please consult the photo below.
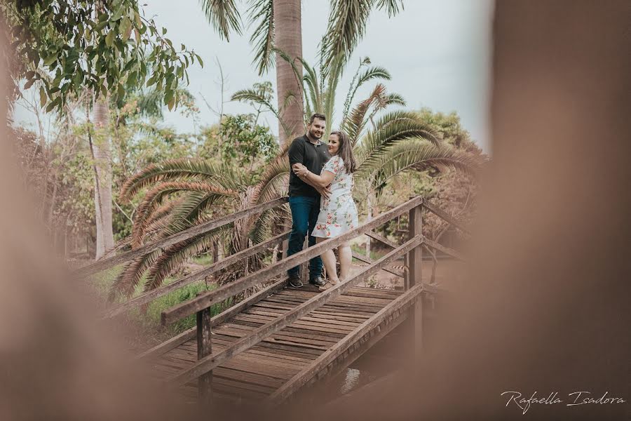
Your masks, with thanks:
M 313 114 L 309 119 L 307 133 L 295 138 L 290 145 L 290 166 L 301 163 L 312 173 L 320 174 L 320 170 L 330 159 L 330 154 L 325 142 L 321 142 L 325 132 L 325 116 Z M 304 237 L 309 236 L 309 246 L 315 245 L 315 237 L 311 236 L 315 221 L 320 213 L 320 196 L 328 196 L 328 189 L 313 187 L 301 180 L 293 171 L 290 171 L 289 203 L 292 210 L 292 232 L 287 246 L 287 256 L 302 250 Z M 292 267 L 287 271 L 290 286 L 300 288 L 302 282 L 299 276 L 299 267 Z M 309 283 L 315 286 L 323 286 L 322 259 L 320 256 L 309 261 Z

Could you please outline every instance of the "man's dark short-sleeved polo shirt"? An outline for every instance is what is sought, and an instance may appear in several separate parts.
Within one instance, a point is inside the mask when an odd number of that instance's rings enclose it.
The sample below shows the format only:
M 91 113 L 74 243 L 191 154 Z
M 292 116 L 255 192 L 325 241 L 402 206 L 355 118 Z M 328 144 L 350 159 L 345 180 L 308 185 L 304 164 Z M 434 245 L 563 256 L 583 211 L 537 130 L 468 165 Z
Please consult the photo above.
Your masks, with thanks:
M 319 141 L 318 145 L 314 145 L 306 135 L 295 138 L 290 145 L 290 166 L 301 163 L 312 173 L 320 175 L 322 167 L 330 158 L 329 149 L 324 142 Z M 320 193 L 290 171 L 290 196 L 320 197 Z

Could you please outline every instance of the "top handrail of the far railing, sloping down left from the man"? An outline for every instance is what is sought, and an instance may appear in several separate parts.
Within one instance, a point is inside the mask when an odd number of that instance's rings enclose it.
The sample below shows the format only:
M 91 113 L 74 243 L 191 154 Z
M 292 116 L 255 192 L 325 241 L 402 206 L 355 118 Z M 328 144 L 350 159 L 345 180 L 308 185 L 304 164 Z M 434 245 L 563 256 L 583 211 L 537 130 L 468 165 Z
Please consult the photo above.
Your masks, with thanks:
M 119 255 L 114 255 L 102 260 L 97 260 L 91 265 L 84 266 L 84 267 L 81 267 L 80 269 L 77 269 L 75 274 L 77 276 L 88 276 L 91 274 L 95 274 L 97 272 L 101 272 L 104 269 L 109 269 L 110 267 L 120 265 L 121 263 L 128 262 L 129 260 L 140 258 L 140 256 L 144 256 L 147 253 L 151 253 L 154 250 L 158 250 L 158 248 L 165 248 L 168 246 L 172 246 L 175 243 L 179 243 L 180 241 L 184 241 L 184 240 L 196 237 L 198 235 L 205 234 L 206 232 L 209 232 L 212 229 L 222 227 L 238 219 L 245 218 L 250 215 L 255 215 L 256 213 L 262 213 L 265 210 L 268 210 L 271 208 L 276 208 L 277 206 L 283 205 L 284 203 L 287 203 L 287 197 L 280 197 L 278 199 L 274 199 L 266 203 L 261 203 L 260 205 L 254 206 L 252 208 L 240 210 L 231 215 L 226 215 L 222 218 L 217 218 L 216 220 L 208 221 L 208 222 L 205 222 L 204 224 L 197 225 L 196 227 L 185 229 L 184 231 L 178 232 L 177 234 L 173 234 L 172 236 L 168 236 L 165 239 L 160 239 L 158 241 L 154 241 L 153 243 L 145 244 L 144 246 L 136 248 L 134 250 L 130 250 L 128 252 L 121 253 Z

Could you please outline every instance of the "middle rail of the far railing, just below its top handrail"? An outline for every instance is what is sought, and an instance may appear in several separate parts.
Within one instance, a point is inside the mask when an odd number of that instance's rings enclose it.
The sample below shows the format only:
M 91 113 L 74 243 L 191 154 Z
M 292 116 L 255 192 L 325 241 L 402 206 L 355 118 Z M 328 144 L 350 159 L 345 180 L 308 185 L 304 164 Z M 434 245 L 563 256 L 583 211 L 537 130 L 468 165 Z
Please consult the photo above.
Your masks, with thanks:
M 238 253 L 234 253 L 233 255 L 229 256 L 228 258 L 225 258 L 224 260 L 219 260 L 219 262 L 215 262 L 212 265 L 205 267 L 204 269 L 201 269 L 201 270 L 198 270 L 197 272 L 193 272 L 192 274 L 186 275 L 183 278 L 178 279 L 177 281 L 173 281 L 171 283 L 168 283 L 167 285 L 161 286 L 154 290 L 147 291 L 147 293 L 139 295 L 136 298 L 133 298 L 132 300 L 129 300 L 119 305 L 116 305 L 114 307 L 111 307 L 107 309 L 107 311 L 105 312 L 103 316 L 103 319 L 108 319 L 110 317 L 116 316 L 116 314 L 125 312 L 126 310 L 131 309 L 133 307 L 147 304 L 147 302 L 151 302 L 155 300 L 156 298 L 161 297 L 162 295 L 170 293 L 173 290 L 182 288 L 183 286 L 188 285 L 189 283 L 200 281 L 201 279 L 204 279 L 206 276 L 210 276 L 211 274 L 214 274 L 215 272 L 219 272 L 220 270 L 225 269 L 226 267 L 229 267 L 231 265 L 234 265 L 235 263 L 238 263 L 241 260 L 250 257 L 251 255 L 262 253 L 268 248 L 276 246 L 276 244 L 280 243 L 281 241 L 284 241 L 284 239 L 289 235 L 289 233 L 290 233 L 289 231 L 283 232 L 283 234 L 279 234 L 273 237 L 272 239 L 263 241 L 262 243 L 259 243 L 250 248 L 246 248 L 245 250 L 241 250 Z

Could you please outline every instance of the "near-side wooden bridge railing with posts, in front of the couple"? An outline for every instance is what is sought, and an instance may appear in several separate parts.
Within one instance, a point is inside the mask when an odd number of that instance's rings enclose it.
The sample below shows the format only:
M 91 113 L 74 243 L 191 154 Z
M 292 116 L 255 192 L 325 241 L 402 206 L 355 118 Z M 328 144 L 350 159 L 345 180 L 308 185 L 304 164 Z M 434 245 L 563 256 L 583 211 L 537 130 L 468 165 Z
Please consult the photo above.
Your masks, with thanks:
M 386 317 L 391 316 L 393 312 L 399 311 L 403 306 L 409 305 L 414 302 L 414 307 L 411 311 L 411 320 L 412 320 L 412 330 L 415 329 L 415 326 L 420 326 L 421 317 L 422 317 L 422 300 L 419 300 L 419 296 L 424 292 L 435 292 L 435 288 L 423 284 L 421 282 L 421 244 L 426 243 L 430 247 L 440 247 L 445 253 L 452 255 L 456 258 L 459 258 L 459 253 L 451 250 L 449 248 L 440 246 L 433 241 L 428 241 L 423 238 L 421 234 L 421 211 L 423 208 L 423 199 L 421 197 L 415 197 L 410 199 L 409 201 L 402 203 L 402 205 L 386 212 L 379 217 L 374 218 L 370 222 L 367 222 L 365 225 L 361 225 L 351 231 L 348 231 L 340 236 L 334 237 L 332 239 L 328 239 L 323 241 L 322 243 L 318 243 L 315 246 L 307 248 L 306 250 L 302 250 L 299 253 L 296 253 L 289 258 L 283 259 L 280 262 L 277 262 L 276 265 L 271 267 L 265 267 L 260 269 L 259 271 L 244 276 L 241 279 L 233 281 L 232 283 L 226 284 L 217 288 L 216 290 L 209 291 L 208 293 L 204 293 L 203 295 L 194 298 L 188 302 L 184 302 L 175 307 L 171 307 L 170 309 L 165 310 L 162 313 L 162 323 L 168 324 L 179 319 L 182 319 L 185 316 L 189 316 L 190 314 L 197 314 L 198 326 L 196 328 L 197 340 L 198 340 L 198 361 L 183 370 L 177 375 L 173 376 L 170 380 L 175 382 L 176 384 L 184 384 L 186 382 L 190 382 L 198 378 L 199 382 L 199 390 L 202 397 L 204 399 L 210 396 L 210 378 L 212 377 L 212 369 L 221 365 L 222 363 L 228 361 L 234 356 L 240 354 L 241 352 L 250 349 L 252 346 L 261 342 L 265 338 L 278 333 L 279 330 L 290 326 L 292 323 L 301 319 L 301 317 L 306 316 L 308 313 L 313 312 L 314 309 L 325 305 L 325 303 L 330 302 L 334 298 L 339 295 L 346 293 L 351 287 L 355 286 L 357 283 L 361 281 L 365 281 L 379 272 L 379 270 L 386 268 L 387 265 L 391 264 L 394 260 L 399 258 L 402 255 L 408 255 L 408 267 L 409 274 L 406 276 L 405 288 L 407 292 L 403 294 L 399 299 L 395 300 L 392 305 L 386 307 L 383 312 L 379 312 L 374 319 L 370 319 L 366 323 L 359 326 L 355 329 L 351 334 L 349 334 L 344 340 L 339 342 L 334 348 L 325 352 L 323 356 L 321 356 L 318 360 L 316 360 L 311 366 L 303 370 L 301 373 L 298 373 L 297 376 L 292 378 L 289 382 L 287 382 L 281 389 L 276 391 L 271 397 L 271 401 L 282 401 L 285 397 L 292 394 L 296 389 L 304 385 L 314 373 L 317 373 L 320 368 L 326 366 L 333 359 L 336 359 L 337 356 L 344 352 L 344 350 L 352 345 L 352 341 L 360 338 L 362 335 L 372 328 L 374 328 L 374 323 L 380 323 Z M 437 210 L 432 206 L 432 208 L 428 207 L 428 210 L 435 211 Z M 297 266 L 302 262 L 306 262 L 311 258 L 321 255 L 325 250 L 330 250 L 331 248 L 335 248 L 339 246 L 341 243 L 348 241 L 350 239 L 355 238 L 361 234 L 368 234 L 373 238 L 382 240 L 383 237 L 379 236 L 372 232 L 373 229 L 383 225 L 384 223 L 392 220 L 393 218 L 397 218 L 399 215 L 402 215 L 406 212 L 409 212 L 409 239 L 403 243 L 402 245 L 397 245 L 392 243 L 391 241 L 384 241 L 385 243 L 389 243 L 389 245 L 393 246 L 394 249 L 391 250 L 390 253 L 385 255 L 383 258 L 376 260 L 370 263 L 367 267 L 362 267 L 362 271 L 359 274 L 353 276 L 352 279 L 348 279 L 344 283 L 340 283 L 337 286 L 334 286 L 328 290 L 325 290 L 323 293 L 315 295 L 313 298 L 307 300 L 304 303 L 301 303 L 294 309 L 291 309 L 289 312 L 283 314 L 283 316 L 279 316 L 268 323 L 265 323 L 262 326 L 259 326 L 255 330 L 253 330 L 248 335 L 243 338 L 239 338 L 236 342 L 233 342 L 228 347 L 222 349 L 219 352 L 212 352 L 212 340 L 211 340 L 211 328 L 212 321 L 210 319 L 210 306 L 217 302 L 221 302 L 226 298 L 229 298 L 233 295 L 236 295 L 243 290 L 255 286 L 264 281 L 268 281 L 273 276 L 278 276 L 280 274 L 284 274 L 287 269 L 291 267 Z M 442 211 L 437 210 L 437 212 L 442 213 Z M 445 215 L 450 219 L 450 223 L 459 226 L 458 222 L 452 220 L 449 215 Z M 439 216 L 442 216 L 439 215 Z M 381 238 L 379 238 L 381 237 Z M 416 348 L 420 348 L 422 346 L 421 338 L 422 335 L 416 335 L 417 339 L 416 344 L 414 345 Z

